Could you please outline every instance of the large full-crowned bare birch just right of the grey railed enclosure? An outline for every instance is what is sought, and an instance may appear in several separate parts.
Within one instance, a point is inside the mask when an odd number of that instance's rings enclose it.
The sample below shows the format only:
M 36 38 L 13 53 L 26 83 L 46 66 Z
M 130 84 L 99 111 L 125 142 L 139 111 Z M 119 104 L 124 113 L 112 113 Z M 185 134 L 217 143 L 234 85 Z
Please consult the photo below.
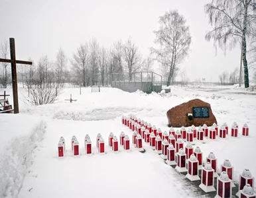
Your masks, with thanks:
M 159 30 L 154 31 L 157 37 L 155 44 L 158 44 L 159 48 L 151 48 L 151 52 L 155 53 L 162 67 L 168 67 L 166 85 L 169 86 L 176 67 L 188 55 L 191 36 L 186 19 L 178 11 L 168 11 L 164 16 L 160 16 L 159 24 Z

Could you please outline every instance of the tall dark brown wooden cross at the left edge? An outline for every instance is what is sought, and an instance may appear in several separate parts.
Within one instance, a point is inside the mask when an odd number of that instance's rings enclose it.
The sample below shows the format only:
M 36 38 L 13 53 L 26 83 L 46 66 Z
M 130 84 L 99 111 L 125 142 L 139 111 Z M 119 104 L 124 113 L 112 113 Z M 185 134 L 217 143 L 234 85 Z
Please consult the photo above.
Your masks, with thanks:
M 17 69 L 16 64 L 32 65 L 31 61 L 18 61 L 15 55 L 15 40 L 10 38 L 10 55 L 11 59 L 1 59 L 0 62 L 11 63 L 11 77 L 13 82 L 13 106 L 14 113 L 19 114 L 19 99 L 18 99 L 18 84 L 17 84 Z

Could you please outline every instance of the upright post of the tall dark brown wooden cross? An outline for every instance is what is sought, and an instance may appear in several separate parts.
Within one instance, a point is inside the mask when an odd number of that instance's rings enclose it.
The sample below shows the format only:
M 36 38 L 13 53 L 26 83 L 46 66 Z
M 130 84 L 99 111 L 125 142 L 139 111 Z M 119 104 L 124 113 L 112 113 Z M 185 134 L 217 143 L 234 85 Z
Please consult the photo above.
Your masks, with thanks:
M 11 75 L 13 81 L 13 105 L 14 113 L 19 114 L 19 99 L 18 99 L 18 85 L 17 85 L 17 69 L 16 69 L 16 57 L 15 57 L 15 40 L 10 38 L 10 54 L 11 54 Z

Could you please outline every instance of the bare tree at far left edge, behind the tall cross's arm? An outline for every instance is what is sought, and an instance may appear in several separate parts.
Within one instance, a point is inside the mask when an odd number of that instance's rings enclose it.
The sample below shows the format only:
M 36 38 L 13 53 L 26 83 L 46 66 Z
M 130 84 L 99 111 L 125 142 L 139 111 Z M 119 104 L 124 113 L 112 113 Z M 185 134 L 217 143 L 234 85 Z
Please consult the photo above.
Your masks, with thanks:
M 9 59 L 9 44 L 7 41 L 1 43 L 0 46 L 0 56 L 4 59 Z M 0 73 L 0 84 L 2 84 L 3 88 L 7 88 L 9 81 L 9 63 L 1 63 L 1 73 Z

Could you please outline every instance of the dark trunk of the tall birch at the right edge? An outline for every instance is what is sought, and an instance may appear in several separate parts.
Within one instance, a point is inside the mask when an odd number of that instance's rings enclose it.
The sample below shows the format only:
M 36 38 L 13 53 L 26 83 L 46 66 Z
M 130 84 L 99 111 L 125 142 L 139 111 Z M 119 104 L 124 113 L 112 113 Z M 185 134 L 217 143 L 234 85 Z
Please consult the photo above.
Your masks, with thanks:
M 248 66 L 246 59 L 246 31 L 247 31 L 247 10 L 248 10 L 248 2 L 245 0 L 245 14 L 243 20 L 243 37 L 242 37 L 242 48 L 243 48 L 243 69 L 244 69 L 244 78 L 245 78 L 245 88 L 249 87 L 249 74 L 248 74 Z

